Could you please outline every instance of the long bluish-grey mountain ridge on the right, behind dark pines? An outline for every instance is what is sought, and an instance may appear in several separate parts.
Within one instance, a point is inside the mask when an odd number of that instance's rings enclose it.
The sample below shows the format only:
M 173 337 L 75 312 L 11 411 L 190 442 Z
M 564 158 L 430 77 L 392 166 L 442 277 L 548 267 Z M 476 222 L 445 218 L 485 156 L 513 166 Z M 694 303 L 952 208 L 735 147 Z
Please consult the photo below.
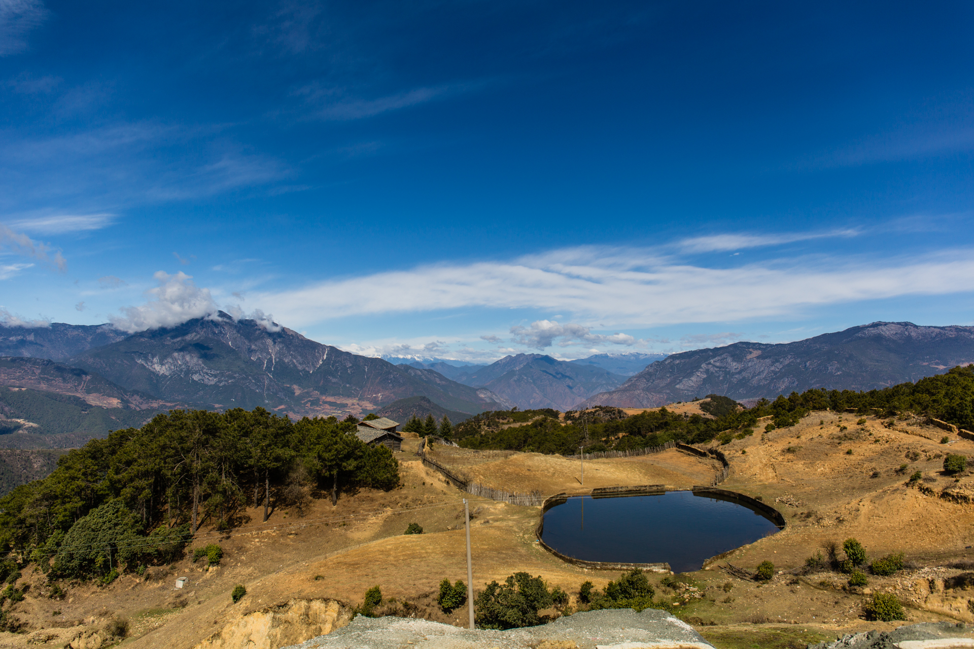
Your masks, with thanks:
M 972 362 L 974 327 L 874 322 L 795 343 L 672 354 L 582 405 L 655 408 L 706 394 L 741 401 L 810 388 L 871 390 Z

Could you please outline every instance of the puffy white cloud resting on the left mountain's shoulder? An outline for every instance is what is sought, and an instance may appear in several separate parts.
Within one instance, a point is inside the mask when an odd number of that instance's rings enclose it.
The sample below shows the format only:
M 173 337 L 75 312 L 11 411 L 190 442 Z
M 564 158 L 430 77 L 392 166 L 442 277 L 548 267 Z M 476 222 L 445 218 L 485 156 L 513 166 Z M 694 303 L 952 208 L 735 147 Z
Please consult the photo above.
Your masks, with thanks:
M 159 286 L 145 292 L 148 298 L 146 304 L 120 308 L 123 316 L 108 318 L 116 329 L 132 334 L 146 329 L 172 327 L 193 318 L 206 317 L 217 310 L 209 290 L 197 287 L 185 272 L 170 275 L 160 270 L 153 276 Z

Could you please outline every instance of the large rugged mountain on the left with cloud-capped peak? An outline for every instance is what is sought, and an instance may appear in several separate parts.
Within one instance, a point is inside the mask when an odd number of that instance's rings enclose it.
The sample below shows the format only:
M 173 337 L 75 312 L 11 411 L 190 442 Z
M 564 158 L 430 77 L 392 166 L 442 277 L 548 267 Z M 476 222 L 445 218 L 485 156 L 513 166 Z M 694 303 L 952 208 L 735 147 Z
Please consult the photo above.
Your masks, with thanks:
M 425 395 L 476 414 L 513 403 L 429 369 L 395 366 L 222 311 L 122 335 L 110 327 L 3 327 L 0 381 L 135 409 L 263 407 L 292 416 L 361 414 Z M 86 346 L 94 345 L 94 346 Z M 70 356 L 65 354 L 71 352 Z M 27 358 L 27 354 L 33 358 Z M 62 362 L 53 363 L 57 358 Z

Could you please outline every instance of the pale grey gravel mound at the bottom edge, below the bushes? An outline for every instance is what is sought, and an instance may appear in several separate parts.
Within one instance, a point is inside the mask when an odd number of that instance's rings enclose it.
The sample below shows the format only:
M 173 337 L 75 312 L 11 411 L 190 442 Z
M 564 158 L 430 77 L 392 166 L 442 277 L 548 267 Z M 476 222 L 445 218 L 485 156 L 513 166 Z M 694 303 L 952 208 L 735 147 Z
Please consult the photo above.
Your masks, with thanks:
M 356 617 L 349 626 L 287 649 L 714 649 L 664 611 L 586 611 L 549 625 L 469 631 L 427 620 Z

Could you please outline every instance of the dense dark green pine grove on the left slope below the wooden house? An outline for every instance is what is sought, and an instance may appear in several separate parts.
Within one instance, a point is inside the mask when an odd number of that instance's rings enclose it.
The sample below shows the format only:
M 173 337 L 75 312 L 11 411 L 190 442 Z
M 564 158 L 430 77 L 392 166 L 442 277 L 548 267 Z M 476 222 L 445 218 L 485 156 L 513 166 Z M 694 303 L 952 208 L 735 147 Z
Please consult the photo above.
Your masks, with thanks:
M 244 508 L 305 505 L 399 484 L 384 446 L 358 440 L 353 420 L 286 416 L 263 409 L 172 411 L 141 428 L 71 451 L 44 480 L 0 499 L 0 543 L 52 577 L 86 578 L 112 565 L 168 562 L 203 524 L 228 529 Z

